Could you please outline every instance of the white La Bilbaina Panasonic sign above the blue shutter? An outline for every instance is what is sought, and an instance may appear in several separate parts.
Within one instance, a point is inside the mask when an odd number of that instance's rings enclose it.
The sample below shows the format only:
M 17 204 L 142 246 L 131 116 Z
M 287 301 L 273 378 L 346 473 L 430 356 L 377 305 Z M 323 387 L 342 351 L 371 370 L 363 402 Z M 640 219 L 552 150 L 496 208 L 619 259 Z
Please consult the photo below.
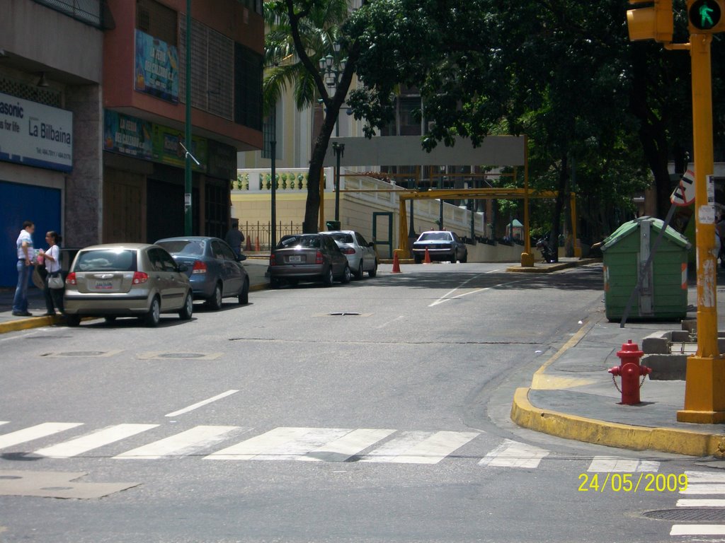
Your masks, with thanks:
M 0 93 L 0 160 L 70 172 L 73 114 Z

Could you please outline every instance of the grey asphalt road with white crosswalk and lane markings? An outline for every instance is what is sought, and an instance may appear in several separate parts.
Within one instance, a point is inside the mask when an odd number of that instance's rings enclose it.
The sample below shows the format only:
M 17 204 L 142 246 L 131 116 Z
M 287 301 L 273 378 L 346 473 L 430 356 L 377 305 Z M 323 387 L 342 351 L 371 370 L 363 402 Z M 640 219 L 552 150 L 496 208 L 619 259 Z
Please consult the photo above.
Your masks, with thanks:
M 4 334 L 0 542 L 687 540 L 650 517 L 697 459 L 508 418 L 603 311 L 600 266 L 389 267 L 156 329 Z

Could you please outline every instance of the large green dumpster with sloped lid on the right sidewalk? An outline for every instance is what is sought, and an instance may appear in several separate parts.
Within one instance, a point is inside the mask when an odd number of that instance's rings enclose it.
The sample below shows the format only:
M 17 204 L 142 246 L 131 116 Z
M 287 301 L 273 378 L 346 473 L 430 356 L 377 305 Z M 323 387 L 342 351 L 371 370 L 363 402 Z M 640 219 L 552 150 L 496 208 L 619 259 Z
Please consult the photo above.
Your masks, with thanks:
M 607 319 L 620 320 L 632 292 L 639 288 L 627 319 L 679 320 L 687 316 L 687 237 L 667 227 L 648 269 L 647 259 L 664 227 L 642 216 L 621 225 L 602 243 Z

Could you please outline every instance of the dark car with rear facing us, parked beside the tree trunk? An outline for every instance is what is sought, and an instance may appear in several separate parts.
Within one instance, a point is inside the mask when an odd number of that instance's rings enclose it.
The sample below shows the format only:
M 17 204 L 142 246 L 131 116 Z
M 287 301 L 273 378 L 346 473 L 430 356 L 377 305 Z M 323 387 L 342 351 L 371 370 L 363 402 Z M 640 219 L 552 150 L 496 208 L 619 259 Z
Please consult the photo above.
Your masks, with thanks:
M 301 280 L 322 281 L 329 286 L 335 279 L 349 283 L 351 277 L 347 257 L 325 234 L 283 236 L 270 254 L 269 274 L 272 287 Z

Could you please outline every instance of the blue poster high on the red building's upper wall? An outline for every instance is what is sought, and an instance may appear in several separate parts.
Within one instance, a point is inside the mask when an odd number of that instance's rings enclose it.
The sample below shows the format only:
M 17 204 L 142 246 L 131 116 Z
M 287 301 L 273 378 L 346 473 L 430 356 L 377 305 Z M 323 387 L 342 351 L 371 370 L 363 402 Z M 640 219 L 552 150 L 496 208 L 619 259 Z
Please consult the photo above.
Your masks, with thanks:
M 136 59 L 133 88 L 177 104 L 179 100 L 179 59 L 170 46 L 141 30 L 136 30 Z

